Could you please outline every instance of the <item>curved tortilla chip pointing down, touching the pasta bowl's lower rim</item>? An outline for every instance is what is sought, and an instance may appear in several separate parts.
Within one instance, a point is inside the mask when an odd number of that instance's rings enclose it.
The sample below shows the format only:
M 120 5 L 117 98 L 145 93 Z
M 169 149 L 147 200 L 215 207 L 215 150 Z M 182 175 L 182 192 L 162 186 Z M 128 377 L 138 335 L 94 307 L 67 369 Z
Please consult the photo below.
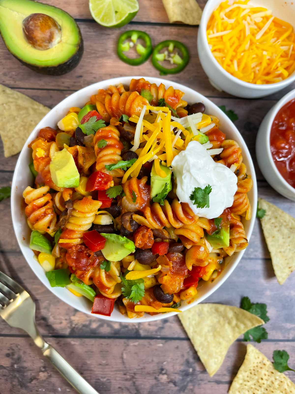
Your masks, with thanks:
M 247 310 L 221 304 L 199 304 L 178 317 L 210 376 L 218 371 L 240 335 L 264 324 Z

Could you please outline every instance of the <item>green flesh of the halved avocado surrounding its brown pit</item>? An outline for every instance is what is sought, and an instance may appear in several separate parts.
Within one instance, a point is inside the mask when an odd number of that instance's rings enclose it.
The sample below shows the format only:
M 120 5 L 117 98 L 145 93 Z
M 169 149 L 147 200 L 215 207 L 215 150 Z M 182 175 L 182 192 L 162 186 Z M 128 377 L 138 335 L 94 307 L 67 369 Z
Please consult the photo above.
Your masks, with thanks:
M 33 13 L 46 14 L 61 26 L 62 39 L 52 48 L 39 50 L 26 40 L 22 23 Z M 9 51 L 29 67 L 53 67 L 70 61 L 67 67 L 74 68 L 77 63 L 73 57 L 79 52 L 81 34 L 75 20 L 62 9 L 32 0 L 0 0 L 0 32 Z

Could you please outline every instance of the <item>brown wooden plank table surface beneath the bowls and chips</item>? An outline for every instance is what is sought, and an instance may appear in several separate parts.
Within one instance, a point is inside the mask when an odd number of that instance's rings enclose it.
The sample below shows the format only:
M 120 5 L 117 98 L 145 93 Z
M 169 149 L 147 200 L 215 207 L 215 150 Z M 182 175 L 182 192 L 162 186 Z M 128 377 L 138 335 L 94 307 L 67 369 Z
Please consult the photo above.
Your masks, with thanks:
M 44 1 L 45 2 L 45 1 Z M 100 80 L 126 75 L 159 76 L 150 61 L 139 67 L 122 63 L 116 56 L 118 36 L 125 30 L 144 30 L 153 44 L 179 39 L 189 48 L 191 59 L 184 72 L 167 79 L 187 85 L 217 105 L 238 113 L 236 126 L 252 154 L 258 195 L 295 216 L 295 205 L 274 191 L 262 176 L 255 157 L 255 138 L 267 111 L 295 86 L 260 100 L 244 100 L 214 89 L 197 56 L 197 27 L 169 24 L 160 0 L 139 0 L 140 10 L 131 24 L 119 30 L 105 29 L 91 19 L 87 0 L 46 0 L 76 18 L 85 52 L 74 71 L 59 77 L 41 76 L 22 66 L 0 42 L 1 83 L 53 107 L 73 91 Z M 201 7 L 206 0 L 199 1 Z M 15 114 L 17 116 L 17 114 Z M 226 130 L 224 130 L 226 131 Z M 11 136 L 13 138 L 13 136 Z M 0 152 L 0 186 L 11 184 L 18 156 L 4 158 Z M 255 211 L 255 207 L 253 207 Z M 229 349 L 219 371 L 210 377 L 188 340 L 178 318 L 151 323 L 107 323 L 89 317 L 45 288 L 20 253 L 13 232 L 10 201 L 0 203 L 0 270 L 28 289 L 37 303 L 36 321 L 50 344 L 93 385 L 100 394 L 218 394 L 226 393 L 245 356 L 242 337 Z M 269 338 L 255 344 L 269 359 L 273 350 L 286 349 L 295 365 L 295 276 L 283 286 L 275 278 L 258 219 L 242 261 L 229 279 L 207 302 L 239 306 L 242 296 L 267 303 Z M 295 375 L 290 373 L 295 381 Z M 0 320 L 0 393 L 74 393 L 75 391 L 42 359 L 39 349 L 17 329 Z M 86 394 L 86 393 L 85 393 Z

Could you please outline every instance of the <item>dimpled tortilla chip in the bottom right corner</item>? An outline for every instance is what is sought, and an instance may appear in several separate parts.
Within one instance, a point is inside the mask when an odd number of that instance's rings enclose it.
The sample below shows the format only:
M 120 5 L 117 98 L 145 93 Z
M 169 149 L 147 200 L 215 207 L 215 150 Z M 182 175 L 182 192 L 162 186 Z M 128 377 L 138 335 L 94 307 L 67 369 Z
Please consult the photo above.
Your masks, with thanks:
M 247 354 L 229 394 L 295 394 L 295 384 L 273 368 L 273 364 L 253 345 L 247 345 Z

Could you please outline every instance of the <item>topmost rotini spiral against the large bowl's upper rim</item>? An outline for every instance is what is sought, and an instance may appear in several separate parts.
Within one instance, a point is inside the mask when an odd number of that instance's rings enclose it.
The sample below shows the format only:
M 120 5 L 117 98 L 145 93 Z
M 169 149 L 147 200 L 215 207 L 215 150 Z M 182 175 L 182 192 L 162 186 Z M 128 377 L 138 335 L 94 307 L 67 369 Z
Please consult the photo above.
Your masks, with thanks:
M 160 84 L 158 87 L 156 84 L 150 84 L 144 78 L 132 79 L 129 85 L 129 90 L 140 93 L 141 89 L 151 92 L 151 95 L 153 96 L 151 105 L 157 106 L 160 99 L 164 99 L 164 101 L 174 110 L 188 105 L 186 101 L 182 100 L 184 93 L 178 89 L 173 89 L 172 86 L 166 89 L 164 84 Z

